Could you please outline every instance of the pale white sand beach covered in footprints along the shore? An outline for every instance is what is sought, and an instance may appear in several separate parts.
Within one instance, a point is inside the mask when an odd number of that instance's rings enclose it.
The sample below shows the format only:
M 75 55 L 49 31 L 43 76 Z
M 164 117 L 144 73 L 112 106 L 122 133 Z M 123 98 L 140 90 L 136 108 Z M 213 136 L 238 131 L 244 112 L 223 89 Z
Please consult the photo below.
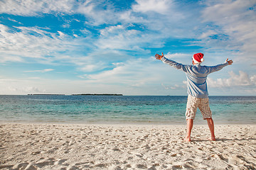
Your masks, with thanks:
M 0 125 L 0 169 L 256 169 L 256 125 Z

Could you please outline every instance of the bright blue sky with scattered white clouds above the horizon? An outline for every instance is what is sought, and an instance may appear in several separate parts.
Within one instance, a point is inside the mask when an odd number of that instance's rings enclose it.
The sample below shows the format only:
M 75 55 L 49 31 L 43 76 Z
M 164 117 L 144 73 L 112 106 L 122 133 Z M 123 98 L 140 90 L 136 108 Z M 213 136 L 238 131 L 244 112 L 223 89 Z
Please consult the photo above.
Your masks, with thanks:
M 0 94 L 186 96 L 202 65 L 210 96 L 256 95 L 255 0 L 0 0 Z

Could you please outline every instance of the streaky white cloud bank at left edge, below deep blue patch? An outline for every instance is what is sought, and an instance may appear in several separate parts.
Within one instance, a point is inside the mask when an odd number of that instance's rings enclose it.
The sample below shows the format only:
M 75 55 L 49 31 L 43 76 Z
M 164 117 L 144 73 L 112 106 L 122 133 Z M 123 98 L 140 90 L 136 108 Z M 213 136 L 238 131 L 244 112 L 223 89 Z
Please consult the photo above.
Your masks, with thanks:
M 50 64 L 58 60 L 59 52 L 65 56 L 81 45 L 78 42 L 80 39 L 73 39 L 60 31 L 50 33 L 37 27 L 15 29 L 0 24 L 1 62 L 26 62 L 29 57 L 36 59 L 36 62 Z M 84 45 L 86 44 L 85 42 Z

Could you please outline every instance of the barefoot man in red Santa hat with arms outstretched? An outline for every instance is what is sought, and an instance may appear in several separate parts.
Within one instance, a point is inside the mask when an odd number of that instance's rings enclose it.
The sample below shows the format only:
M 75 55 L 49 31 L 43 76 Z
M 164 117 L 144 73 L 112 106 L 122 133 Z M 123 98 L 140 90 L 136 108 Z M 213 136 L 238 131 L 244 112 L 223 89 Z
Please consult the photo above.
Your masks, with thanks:
M 174 62 L 173 60 L 168 60 L 164 57 L 163 52 L 161 55 L 156 54 L 155 57 L 156 60 L 161 60 L 162 62 L 169 64 L 176 69 L 181 69 L 186 73 L 188 84 L 188 103 L 186 106 L 187 135 L 184 141 L 191 142 L 191 130 L 193 128 L 193 119 L 196 116 L 197 108 L 201 111 L 203 119 L 207 120 L 211 135 L 210 140 L 215 140 L 214 124 L 209 106 L 206 79 L 208 74 L 217 72 L 220 69 L 223 69 L 223 67 L 233 64 L 233 61 L 227 59 L 224 64 L 208 67 L 201 66 L 201 63 L 204 61 L 202 53 L 193 55 L 192 65 L 184 65 Z

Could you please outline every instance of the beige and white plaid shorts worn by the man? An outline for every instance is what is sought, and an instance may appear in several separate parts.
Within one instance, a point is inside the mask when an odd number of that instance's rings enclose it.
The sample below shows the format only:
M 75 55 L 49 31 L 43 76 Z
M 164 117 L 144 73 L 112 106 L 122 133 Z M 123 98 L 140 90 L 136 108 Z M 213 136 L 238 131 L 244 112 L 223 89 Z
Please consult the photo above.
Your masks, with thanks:
M 212 112 L 210 111 L 209 106 L 209 98 L 196 98 L 188 95 L 186 119 L 195 119 L 197 108 L 199 108 L 201 111 L 203 119 L 212 118 Z

